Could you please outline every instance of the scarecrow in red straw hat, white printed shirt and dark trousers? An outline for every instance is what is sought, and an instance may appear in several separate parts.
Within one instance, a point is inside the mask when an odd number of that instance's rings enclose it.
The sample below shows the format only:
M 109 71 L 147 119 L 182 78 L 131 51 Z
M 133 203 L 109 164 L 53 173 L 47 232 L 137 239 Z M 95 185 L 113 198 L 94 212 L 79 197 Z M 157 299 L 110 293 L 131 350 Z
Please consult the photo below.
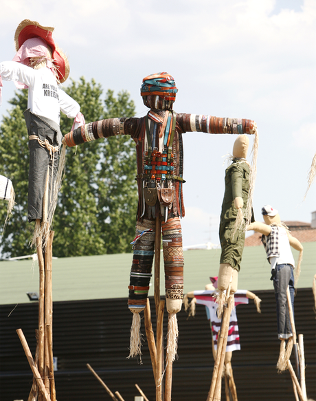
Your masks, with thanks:
M 13 61 L 0 63 L 0 87 L 2 78 L 15 81 L 18 88 L 28 88 L 24 112 L 30 150 L 27 219 L 36 221 L 34 239 L 41 234 L 41 221 L 48 222 L 45 230 L 49 231 L 60 188 L 60 179 L 56 180 L 63 138 L 60 111 L 75 118 L 73 128 L 84 124 L 78 103 L 60 89 L 59 84 L 69 76 L 69 63 L 54 42 L 53 31 L 54 28 L 36 21 L 23 20 L 14 36 L 17 53 Z M 62 169 L 62 160 L 60 164 Z M 46 211 L 43 210 L 45 197 Z

